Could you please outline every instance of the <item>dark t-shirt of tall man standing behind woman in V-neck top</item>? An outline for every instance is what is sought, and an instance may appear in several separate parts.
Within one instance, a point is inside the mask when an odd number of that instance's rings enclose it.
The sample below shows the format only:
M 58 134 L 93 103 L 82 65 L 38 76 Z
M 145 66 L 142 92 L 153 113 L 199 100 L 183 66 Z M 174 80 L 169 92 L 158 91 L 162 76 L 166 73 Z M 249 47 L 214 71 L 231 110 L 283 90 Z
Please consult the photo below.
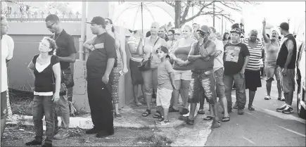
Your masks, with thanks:
M 72 53 L 77 53 L 77 50 L 75 49 L 75 39 L 73 39 L 70 34 L 65 32 L 65 30 L 60 32 L 60 34 L 56 34 L 55 36 L 52 35 L 51 38 L 56 40 L 56 46 L 58 46 L 58 49 L 56 49 L 56 56 L 68 57 Z M 65 70 L 69 67 L 70 63 L 60 61 L 61 70 Z

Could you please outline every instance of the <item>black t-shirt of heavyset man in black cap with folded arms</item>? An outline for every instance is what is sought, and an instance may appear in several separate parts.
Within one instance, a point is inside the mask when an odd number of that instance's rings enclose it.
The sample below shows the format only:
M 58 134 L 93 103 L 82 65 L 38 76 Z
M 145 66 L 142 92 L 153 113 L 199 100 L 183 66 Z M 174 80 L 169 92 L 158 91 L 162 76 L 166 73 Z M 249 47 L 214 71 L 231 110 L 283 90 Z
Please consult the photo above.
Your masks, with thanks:
M 104 44 L 103 49 L 95 49 L 89 53 L 87 59 L 87 79 L 90 78 L 102 78 L 106 72 L 106 66 L 108 58 L 117 58 L 115 49 L 115 39 L 108 33 L 98 35 L 94 44 Z

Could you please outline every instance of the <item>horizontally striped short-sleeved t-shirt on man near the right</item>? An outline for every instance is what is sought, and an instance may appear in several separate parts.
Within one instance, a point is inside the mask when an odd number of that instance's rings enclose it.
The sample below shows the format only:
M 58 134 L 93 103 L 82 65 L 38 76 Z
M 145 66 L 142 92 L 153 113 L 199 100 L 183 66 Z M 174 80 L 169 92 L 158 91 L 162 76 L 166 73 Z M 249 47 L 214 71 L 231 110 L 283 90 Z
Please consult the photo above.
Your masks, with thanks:
M 250 52 L 250 60 L 248 61 L 248 65 L 246 66 L 246 70 L 257 71 L 260 70 L 260 60 L 262 58 L 262 50 L 264 49 L 264 45 L 261 41 L 258 41 L 257 46 L 255 48 L 250 47 L 248 44 L 249 39 L 242 39 L 243 44 L 248 46 L 248 51 Z

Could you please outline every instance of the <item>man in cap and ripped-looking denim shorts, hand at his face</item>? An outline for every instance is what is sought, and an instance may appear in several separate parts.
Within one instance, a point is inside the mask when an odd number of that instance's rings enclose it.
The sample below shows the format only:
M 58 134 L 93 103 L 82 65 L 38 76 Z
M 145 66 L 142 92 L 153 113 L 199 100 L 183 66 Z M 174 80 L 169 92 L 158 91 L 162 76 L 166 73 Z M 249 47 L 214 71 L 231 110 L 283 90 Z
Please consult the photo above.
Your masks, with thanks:
M 187 124 L 193 124 L 194 113 L 196 110 L 196 105 L 200 101 L 199 94 L 203 90 L 205 98 L 208 99 L 208 103 L 212 105 L 213 113 L 215 114 L 214 121 L 212 122 L 212 127 L 220 127 L 219 117 L 217 116 L 217 95 L 215 91 L 215 78 L 214 78 L 214 59 L 216 44 L 214 41 L 209 39 L 210 29 L 208 26 L 203 25 L 198 30 L 199 39 L 191 46 L 191 51 L 189 52 L 188 60 L 192 64 L 192 75 L 189 88 L 189 99 L 188 102 L 191 103 L 191 110 L 189 117 L 186 118 Z

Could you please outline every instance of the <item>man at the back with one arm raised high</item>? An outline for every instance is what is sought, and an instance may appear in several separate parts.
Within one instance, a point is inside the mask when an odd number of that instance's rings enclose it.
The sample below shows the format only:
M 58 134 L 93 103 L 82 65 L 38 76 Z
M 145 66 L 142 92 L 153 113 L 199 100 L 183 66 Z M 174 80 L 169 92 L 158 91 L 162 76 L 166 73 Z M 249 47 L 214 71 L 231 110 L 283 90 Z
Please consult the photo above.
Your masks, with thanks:
M 276 30 L 272 31 L 272 39 L 270 40 L 269 37 L 267 37 L 266 34 L 266 20 L 262 21 L 262 36 L 264 37 L 264 43 L 266 44 L 266 58 L 264 61 L 264 72 L 267 75 L 266 79 L 266 87 L 267 87 L 267 96 L 264 97 L 265 100 L 271 99 L 270 93 L 271 93 L 271 85 L 272 81 L 274 81 L 274 75 L 277 81 L 277 90 L 279 91 L 279 97 L 278 100 L 284 101 L 285 98 L 281 97 L 281 81 L 280 81 L 280 75 L 279 75 L 279 67 L 276 66 L 276 58 L 277 53 L 279 51 L 279 34 L 276 32 Z

